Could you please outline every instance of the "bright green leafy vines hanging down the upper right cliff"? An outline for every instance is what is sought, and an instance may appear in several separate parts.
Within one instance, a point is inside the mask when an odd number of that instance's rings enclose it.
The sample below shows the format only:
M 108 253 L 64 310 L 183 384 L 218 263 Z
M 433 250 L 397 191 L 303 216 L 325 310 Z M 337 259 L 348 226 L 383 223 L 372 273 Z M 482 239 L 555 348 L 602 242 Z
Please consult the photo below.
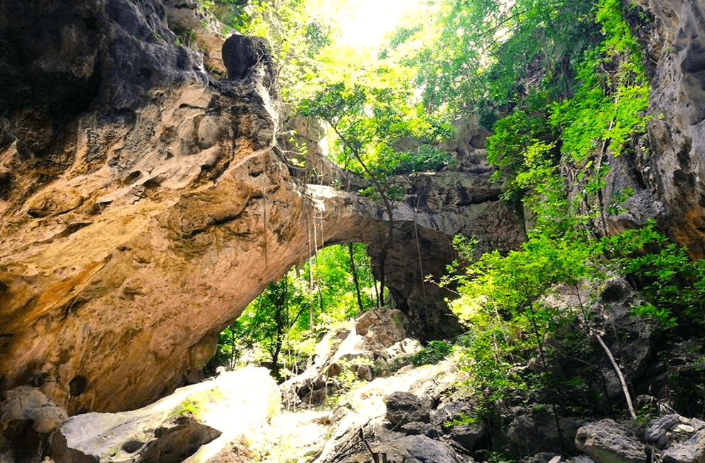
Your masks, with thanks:
M 494 125 L 487 142 L 488 160 L 499 168 L 496 179 L 504 180 L 504 198 L 523 203 L 533 214 L 534 227 L 555 237 L 583 234 L 590 220 L 604 214 L 602 202 L 595 199 L 607 173 L 602 158 L 635 145 L 646 128 L 649 85 L 639 43 L 622 16 L 620 1 L 600 0 L 597 6 L 594 16 L 585 14 L 583 21 L 597 21 L 602 36 L 600 41 L 595 36 L 580 60 L 575 59 L 575 95 L 564 98 L 535 85 Z M 559 166 L 575 172 L 570 185 L 559 175 Z M 579 210 L 587 212 L 579 216 Z

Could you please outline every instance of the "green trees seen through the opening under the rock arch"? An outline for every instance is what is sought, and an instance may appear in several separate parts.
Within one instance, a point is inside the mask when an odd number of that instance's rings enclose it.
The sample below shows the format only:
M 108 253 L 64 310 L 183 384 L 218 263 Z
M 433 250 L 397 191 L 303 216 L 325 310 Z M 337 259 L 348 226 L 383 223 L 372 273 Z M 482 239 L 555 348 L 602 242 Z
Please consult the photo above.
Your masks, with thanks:
M 353 258 L 362 305 L 371 307 L 375 305 L 370 292 L 374 279 L 365 245 L 353 245 Z M 296 370 L 302 357 L 305 360 L 313 355 L 321 329 L 357 314 L 350 268 L 348 246 L 330 246 L 301 268 L 291 269 L 283 279 L 269 284 L 219 334 L 211 365 L 233 367 L 246 350 L 253 350 L 259 361 L 281 363 L 284 375 Z

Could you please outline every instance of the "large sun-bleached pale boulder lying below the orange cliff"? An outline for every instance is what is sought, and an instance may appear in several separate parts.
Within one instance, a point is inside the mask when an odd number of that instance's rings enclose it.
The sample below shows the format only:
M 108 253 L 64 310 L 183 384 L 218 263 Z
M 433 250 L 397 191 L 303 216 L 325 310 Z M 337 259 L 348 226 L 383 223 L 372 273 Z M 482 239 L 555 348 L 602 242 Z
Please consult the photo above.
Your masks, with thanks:
M 244 368 L 139 410 L 75 415 L 53 436 L 51 456 L 56 463 L 206 461 L 265 424 L 279 405 L 268 370 Z

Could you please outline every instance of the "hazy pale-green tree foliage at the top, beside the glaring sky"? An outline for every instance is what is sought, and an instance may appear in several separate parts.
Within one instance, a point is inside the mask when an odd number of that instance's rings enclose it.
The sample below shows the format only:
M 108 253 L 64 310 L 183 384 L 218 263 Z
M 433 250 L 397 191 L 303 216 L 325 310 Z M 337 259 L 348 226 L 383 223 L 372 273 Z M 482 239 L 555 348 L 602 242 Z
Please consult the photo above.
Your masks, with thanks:
M 440 0 L 432 24 L 398 28 L 401 62 L 417 70 L 430 111 L 514 105 L 538 90 L 570 92 L 573 66 L 595 33 L 590 0 Z M 420 45 L 419 45 L 420 43 Z M 393 54 L 387 50 L 386 54 Z

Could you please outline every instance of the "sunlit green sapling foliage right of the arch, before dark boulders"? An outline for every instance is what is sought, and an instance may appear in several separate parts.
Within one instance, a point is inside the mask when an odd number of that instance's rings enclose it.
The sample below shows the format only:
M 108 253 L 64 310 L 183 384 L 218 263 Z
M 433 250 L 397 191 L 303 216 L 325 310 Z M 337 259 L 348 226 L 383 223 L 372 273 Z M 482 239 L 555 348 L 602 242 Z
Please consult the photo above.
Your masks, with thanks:
M 522 374 L 521 365 L 537 350 L 544 358 L 550 348 L 544 338 L 566 315 L 541 298 L 559 284 L 595 276 L 592 262 L 599 252 L 589 241 L 535 231 L 520 251 L 494 251 L 467 266 L 456 279 L 460 298 L 449 305 L 468 327 L 458 343 L 464 346 L 461 365 L 470 375 L 471 394 L 492 404 L 545 387 L 548 378 Z

